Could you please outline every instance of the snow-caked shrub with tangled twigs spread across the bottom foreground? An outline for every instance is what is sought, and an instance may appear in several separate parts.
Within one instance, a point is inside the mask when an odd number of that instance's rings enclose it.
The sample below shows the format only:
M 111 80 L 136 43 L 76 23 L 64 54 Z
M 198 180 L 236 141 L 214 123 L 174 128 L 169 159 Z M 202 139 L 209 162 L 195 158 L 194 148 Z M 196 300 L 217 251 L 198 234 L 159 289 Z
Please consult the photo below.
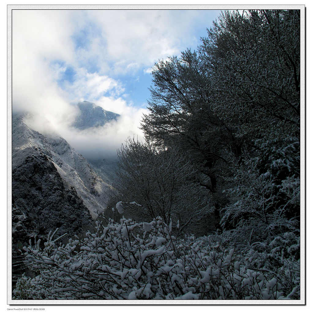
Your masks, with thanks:
M 209 237 L 172 236 L 172 224 L 131 219 L 97 222 L 83 240 L 58 244 L 49 234 L 24 247 L 37 276 L 19 279 L 16 299 L 282 299 L 278 277 L 249 268 L 234 249 Z M 284 269 L 285 273 L 288 270 Z M 293 295 L 296 297 L 296 291 Z

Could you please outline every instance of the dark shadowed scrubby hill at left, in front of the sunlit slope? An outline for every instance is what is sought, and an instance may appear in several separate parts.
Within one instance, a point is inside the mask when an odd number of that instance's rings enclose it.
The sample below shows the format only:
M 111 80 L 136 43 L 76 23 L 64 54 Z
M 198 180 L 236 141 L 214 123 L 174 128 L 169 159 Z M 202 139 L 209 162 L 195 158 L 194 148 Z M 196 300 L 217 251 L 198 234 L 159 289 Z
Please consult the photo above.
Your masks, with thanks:
M 68 187 L 54 163 L 40 151 L 27 148 L 25 158 L 12 170 L 13 248 L 49 231 L 79 234 L 91 221 L 88 208 L 73 187 Z

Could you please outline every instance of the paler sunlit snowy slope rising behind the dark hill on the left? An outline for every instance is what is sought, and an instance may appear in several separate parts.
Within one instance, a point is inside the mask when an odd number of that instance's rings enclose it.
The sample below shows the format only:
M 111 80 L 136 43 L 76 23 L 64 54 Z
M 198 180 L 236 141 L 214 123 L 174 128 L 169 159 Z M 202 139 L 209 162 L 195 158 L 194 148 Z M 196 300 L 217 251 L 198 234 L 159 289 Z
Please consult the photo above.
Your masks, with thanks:
M 25 116 L 13 116 L 12 160 L 14 169 L 29 151 L 42 153 L 53 163 L 68 187 L 74 187 L 93 218 L 106 208 L 109 185 L 96 174 L 88 161 L 60 136 L 44 136 L 25 124 Z

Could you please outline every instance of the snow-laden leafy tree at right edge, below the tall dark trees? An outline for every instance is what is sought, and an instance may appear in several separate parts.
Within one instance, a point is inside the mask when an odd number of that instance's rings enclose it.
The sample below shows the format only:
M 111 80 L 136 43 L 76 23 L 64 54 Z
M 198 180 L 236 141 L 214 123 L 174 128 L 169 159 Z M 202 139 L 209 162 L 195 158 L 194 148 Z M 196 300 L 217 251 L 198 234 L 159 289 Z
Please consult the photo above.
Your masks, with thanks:
M 265 250 L 285 232 L 300 234 L 299 140 L 258 140 L 255 145 L 257 156 L 246 156 L 231 179 L 233 187 L 225 191 L 232 202 L 221 210 L 220 224 L 232 230 L 232 241 Z

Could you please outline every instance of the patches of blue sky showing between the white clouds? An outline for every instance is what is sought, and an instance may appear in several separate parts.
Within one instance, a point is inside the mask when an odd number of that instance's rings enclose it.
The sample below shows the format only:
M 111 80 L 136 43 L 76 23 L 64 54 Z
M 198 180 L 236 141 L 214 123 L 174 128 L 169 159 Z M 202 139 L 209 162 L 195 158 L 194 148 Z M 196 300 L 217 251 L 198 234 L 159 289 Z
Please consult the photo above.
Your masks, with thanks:
M 149 12 L 147 12 L 148 15 Z M 159 14 L 162 14 L 162 11 L 159 11 Z M 168 19 L 172 19 L 172 21 L 176 20 L 179 21 L 181 19 L 181 16 L 183 16 L 183 20 L 188 19 L 189 21 L 187 22 L 188 25 L 191 27 L 188 28 L 187 34 L 184 34 L 182 32 L 179 32 L 178 29 L 176 30 L 171 30 L 170 28 L 168 31 L 173 31 L 175 34 L 177 34 L 177 37 L 175 38 L 175 41 L 172 42 L 172 55 L 178 55 L 180 51 L 185 50 L 187 47 L 190 47 L 191 49 L 196 49 L 197 45 L 200 43 L 199 39 L 200 37 L 206 36 L 206 27 L 211 26 L 211 22 L 213 19 L 215 19 L 219 11 L 216 10 L 206 10 L 206 11 L 167 11 L 166 12 Z M 117 14 L 118 15 L 118 14 Z M 144 15 L 145 16 L 145 15 Z M 174 26 L 174 23 L 170 23 L 170 27 Z M 142 26 L 144 26 L 144 22 L 142 23 Z M 177 23 L 177 28 L 179 26 L 179 23 Z M 151 27 L 151 25 L 148 25 L 147 27 Z M 168 26 L 169 27 L 169 26 Z M 109 30 L 108 30 L 109 31 Z M 114 30 L 112 30 L 113 32 Z M 157 31 L 157 29 L 156 29 Z M 157 32 L 154 32 L 154 36 L 157 35 L 162 35 L 157 34 Z M 158 30 L 159 31 L 159 30 Z M 118 36 L 118 35 L 116 35 Z M 137 34 L 138 38 L 138 46 L 135 47 L 133 46 L 132 48 L 135 50 L 140 49 L 139 43 L 143 40 L 144 38 L 141 37 L 139 34 Z M 187 41 L 186 38 L 189 39 Z M 102 34 L 102 28 L 100 25 L 95 23 L 94 21 L 88 20 L 86 25 L 81 28 L 80 30 L 75 31 L 75 33 L 72 35 L 72 39 L 75 43 L 75 48 L 76 51 L 79 50 L 84 50 L 88 51 L 88 47 L 92 44 L 93 38 L 100 38 L 100 41 L 102 42 L 103 47 L 107 47 L 109 45 L 109 42 L 103 36 Z M 134 37 L 135 38 L 135 37 Z M 157 41 L 157 40 L 156 40 Z M 169 42 L 170 44 L 170 42 Z M 156 44 L 155 44 L 156 45 Z M 170 49 L 168 49 L 170 50 Z M 115 80 L 119 81 L 119 84 L 125 89 L 124 95 L 123 96 L 125 99 L 130 100 L 133 102 L 135 106 L 144 106 L 146 104 L 146 100 L 149 98 L 149 90 L 148 87 L 151 85 L 151 73 L 146 73 L 146 70 L 148 68 L 151 68 L 154 65 L 154 62 L 156 62 L 158 59 L 166 58 L 169 55 L 166 53 L 159 53 L 155 54 L 153 56 L 153 59 L 150 61 L 149 67 L 148 64 L 144 63 L 145 65 L 141 65 L 138 67 L 135 67 L 134 69 L 125 71 L 125 72 L 117 72 L 114 73 L 111 71 L 112 68 L 114 68 L 114 58 L 112 60 L 108 61 L 110 70 L 107 71 L 110 77 L 114 78 Z M 118 60 L 117 60 L 118 62 Z M 131 64 L 132 62 L 137 62 L 136 58 L 134 57 L 133 59 L 130 60 Z M 101 71 L 101 65 L 98 64 L 97 59 L 91 59 L 91 58 L 86 58 L 82 61 L 81 64 L 82 67 L 86 68 L 89 73 L 105 73 L 106 71 Z M 59 82 L 60 85 L 62 85 L 64 80 L 67 80 L 69 82 L 73 82 L 75 80 L 75 74 L 76 71 L 75 69 L 68 64 L 66 67 L 65 72 L 63 73 L 61 80 Z M 104 93 L 105 95 L 106 93 Z M 83 98 L 88 98 L 88 95 L 85 94 Z M 96 100 L 96 99 L 95 99 Z M 92 99 L 92 101 L 95 101 Z

